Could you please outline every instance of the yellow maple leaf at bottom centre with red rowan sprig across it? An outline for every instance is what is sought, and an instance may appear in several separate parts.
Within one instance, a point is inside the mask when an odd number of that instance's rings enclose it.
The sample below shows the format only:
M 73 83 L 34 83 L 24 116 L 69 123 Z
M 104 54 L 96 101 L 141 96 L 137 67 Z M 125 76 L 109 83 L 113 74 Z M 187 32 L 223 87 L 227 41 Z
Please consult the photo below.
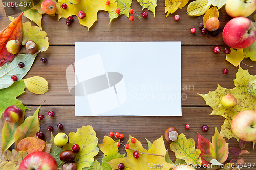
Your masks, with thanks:
M 154 169 L 161 169 L 161 170 L 169 170 L 169 167 L 158 167 L 160 165 L 164 165 L 167 163 L 165 161 L 165 154 L 166 154 L 166 148 L 164 146 L 164 141 L 163 137 L 161 136 L 159 139 L 155 140 L 152 143 L 152 147 L 149 150 L 146 150 L 142 147 L 142 144 L 139 140 L 136 139 L 135 143 L 131 143 L 131 138 L 132 136 L 129 135 L 129 149 L 126 149 L 127 152 L 127 157 L 124 158 L 117 158 L 113 159 L 111 161 L 108 161 L 107 163 L 111 166 L 112 169 L 118 169 L 118 164 L 120 162 L 125 164 L 125 169 L 130 169 L 130 170 L 138 170 L 138 169 L 144 169 L 144 170 L 149 170 L 152 169 L 153 166 L 151 165 L 156 165 Z M 133 157 L 133 152 L 135 149 L 139 152 L 143 152 L 140 154 L 138 159 L 134 159 Z M 158 155 L 163 155 L 162 156 L 156 156 L 156 155 L 148 155 L 148 154 L 158 154 Z

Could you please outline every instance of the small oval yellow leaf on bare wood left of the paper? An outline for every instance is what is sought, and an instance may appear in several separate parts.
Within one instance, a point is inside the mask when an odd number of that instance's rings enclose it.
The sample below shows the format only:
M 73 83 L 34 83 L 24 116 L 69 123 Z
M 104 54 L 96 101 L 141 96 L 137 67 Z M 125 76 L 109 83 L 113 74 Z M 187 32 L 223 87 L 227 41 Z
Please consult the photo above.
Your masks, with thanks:
M 24 79 L 24 83 L 28 90 L 35 94 L 45 94 L 48 90 L 48 82 L 40 76 Z

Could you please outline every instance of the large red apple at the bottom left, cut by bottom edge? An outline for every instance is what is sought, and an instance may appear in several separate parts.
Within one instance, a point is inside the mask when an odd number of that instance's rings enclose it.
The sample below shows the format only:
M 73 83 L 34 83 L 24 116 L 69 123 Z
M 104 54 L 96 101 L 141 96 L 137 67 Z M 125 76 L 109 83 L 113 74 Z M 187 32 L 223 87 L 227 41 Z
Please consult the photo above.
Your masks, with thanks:
M 43 151 L 28 154 L 20 163 L 19 170 L 57 170 L 58 165 L 54 157 Z

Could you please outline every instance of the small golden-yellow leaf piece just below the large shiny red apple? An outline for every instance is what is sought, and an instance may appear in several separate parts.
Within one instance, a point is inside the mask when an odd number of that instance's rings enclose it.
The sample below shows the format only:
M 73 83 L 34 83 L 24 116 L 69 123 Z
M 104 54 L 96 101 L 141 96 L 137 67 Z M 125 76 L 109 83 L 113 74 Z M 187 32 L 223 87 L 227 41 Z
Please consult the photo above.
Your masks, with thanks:
M 237 67 L 241 61 L 244 59 L 244 52 L 243 49 L 233 49 L 231 48 L 231 53 L 226 54 L 226 60 Z

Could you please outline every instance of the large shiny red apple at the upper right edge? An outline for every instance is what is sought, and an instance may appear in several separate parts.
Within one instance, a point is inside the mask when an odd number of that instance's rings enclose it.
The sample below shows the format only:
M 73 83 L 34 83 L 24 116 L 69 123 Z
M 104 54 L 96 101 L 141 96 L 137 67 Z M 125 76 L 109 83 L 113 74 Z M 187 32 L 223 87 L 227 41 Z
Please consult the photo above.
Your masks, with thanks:
M 222 37 L 231 48 L 247 48 L 256 40 L 256 28 L 250 19 L 236 17 L 227 22 Z

